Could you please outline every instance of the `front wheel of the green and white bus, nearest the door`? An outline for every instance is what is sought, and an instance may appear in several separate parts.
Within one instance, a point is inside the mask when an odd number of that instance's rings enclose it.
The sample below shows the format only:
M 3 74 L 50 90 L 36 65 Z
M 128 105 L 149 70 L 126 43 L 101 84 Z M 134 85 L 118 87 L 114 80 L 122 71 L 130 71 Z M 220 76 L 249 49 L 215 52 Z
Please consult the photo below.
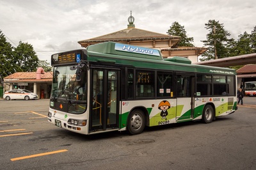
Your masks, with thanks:
M 135 109 L 128 116 L 127 130 L 129 134 L 136 135 L 143 132 L 146 125 L 145 114 L 140 109 Z

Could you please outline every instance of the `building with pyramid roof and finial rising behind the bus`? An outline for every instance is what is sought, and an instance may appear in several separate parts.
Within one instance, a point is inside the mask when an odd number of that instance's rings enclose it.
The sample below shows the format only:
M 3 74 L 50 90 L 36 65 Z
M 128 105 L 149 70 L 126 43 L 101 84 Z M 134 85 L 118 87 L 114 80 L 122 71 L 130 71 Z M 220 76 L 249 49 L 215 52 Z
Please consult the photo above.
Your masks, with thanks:
M 178 47 L 180 36 L 164 35 L 135 27 L 134 17 L 129 17 L 129 25 L 126 29 L 115 31 L 107 35 L 97 36 L 88 40 L 81 40 L 78 43 L 81 47 L 88 47 L 95 43 L 102 42 L 118 42 L 136 45 L 140 47 L 148 47 L 161 51 L 163 58 L 172 58 L 179 56 L 188 58 L 192 63 L 198 62 L 198 56 L 203 54 L 207 48 L 204 47 Z

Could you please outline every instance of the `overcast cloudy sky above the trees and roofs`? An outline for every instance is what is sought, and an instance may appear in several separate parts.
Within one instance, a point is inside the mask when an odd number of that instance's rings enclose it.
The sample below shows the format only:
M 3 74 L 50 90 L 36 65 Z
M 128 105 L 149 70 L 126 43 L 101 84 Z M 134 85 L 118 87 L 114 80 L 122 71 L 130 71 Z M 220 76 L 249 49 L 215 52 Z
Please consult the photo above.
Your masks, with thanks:
M 50 62 L 51 54 L 81 48 L 80 40 L 126 29 L 130 11 L 147 31 L 166 34 L 179 22 L 196 47 L 208 20 L 219 20 L 235 40 L 256 26 L 255 0 L 0 0 L 0 30 L 13 47 L 28 42 Z

